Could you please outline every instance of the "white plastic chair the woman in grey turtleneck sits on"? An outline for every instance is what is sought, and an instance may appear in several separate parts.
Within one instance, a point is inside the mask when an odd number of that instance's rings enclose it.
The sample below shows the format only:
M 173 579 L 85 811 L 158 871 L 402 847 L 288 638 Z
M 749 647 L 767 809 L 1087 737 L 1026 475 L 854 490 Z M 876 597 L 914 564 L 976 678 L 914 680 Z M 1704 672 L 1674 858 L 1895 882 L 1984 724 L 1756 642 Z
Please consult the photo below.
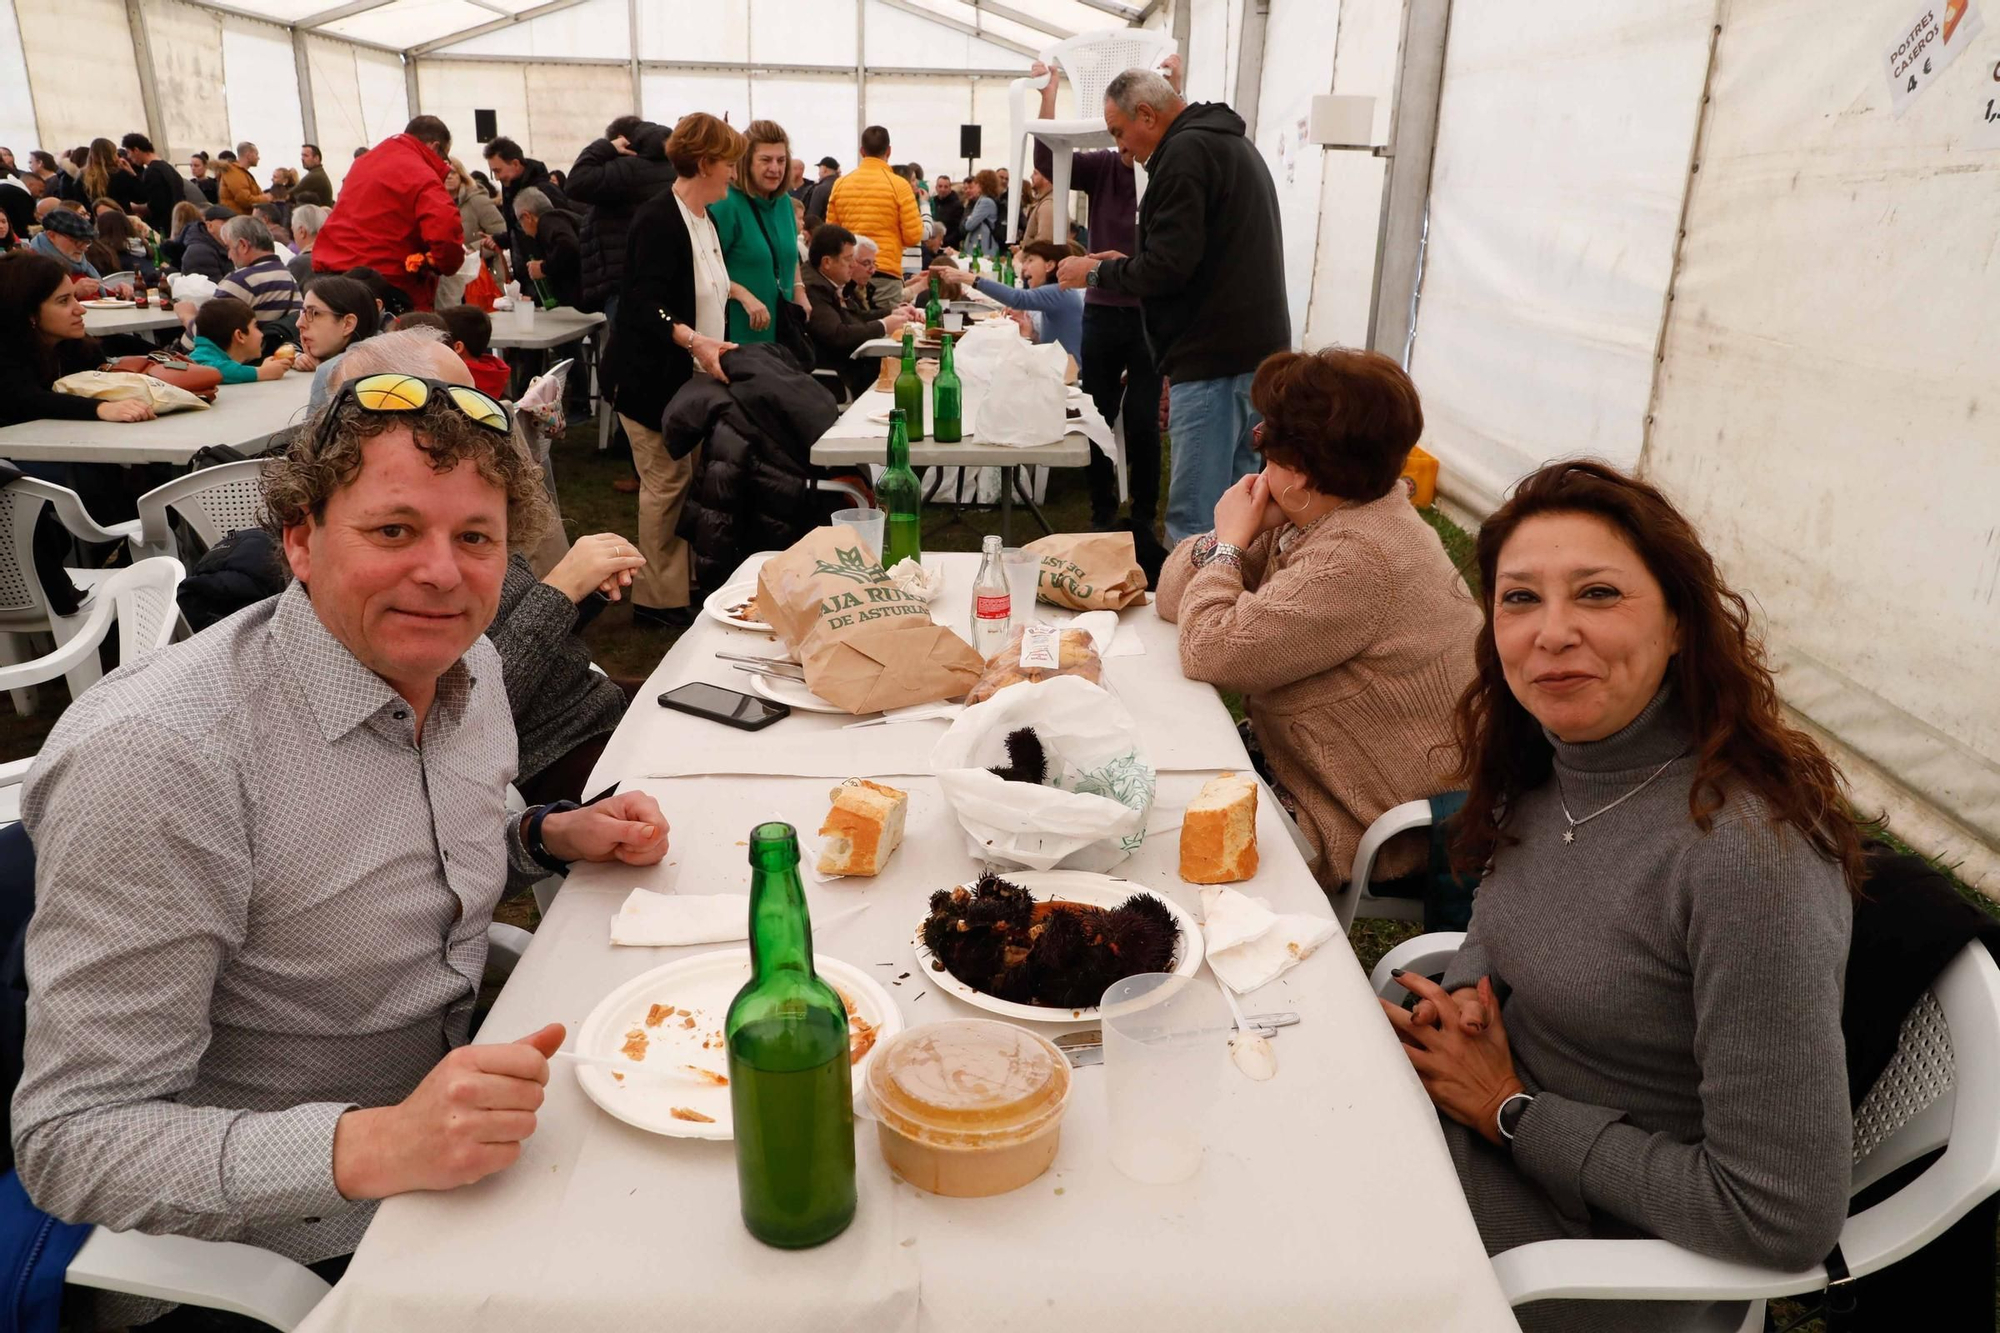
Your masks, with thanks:
M 1376 965 L 1376 995 L 1408 991 L 1392 969 L 1440 975 L 1464 935 L 1418 935 Z M 1896 1055 L 1854 1113 L 1860 1193 L 1926 1153 L 1944 1149 L 1920 1177 L 1848 1217 L 1840 1255 L 1868 1277 L 1938 1239 L 2000 1193 L 2000 967 L 1978 941 L 1966 945 L 1902 1023 Z M 1820 1291 L 1824 1265 L 1798 1273 L 1708 1259 L 1668 1241 L 1538 1241 L 1494 1255 L 1510 1305 L 1528 1301 L 1748 1301 L 1742 1333 L 1764 1327 L 1764 1301 Z

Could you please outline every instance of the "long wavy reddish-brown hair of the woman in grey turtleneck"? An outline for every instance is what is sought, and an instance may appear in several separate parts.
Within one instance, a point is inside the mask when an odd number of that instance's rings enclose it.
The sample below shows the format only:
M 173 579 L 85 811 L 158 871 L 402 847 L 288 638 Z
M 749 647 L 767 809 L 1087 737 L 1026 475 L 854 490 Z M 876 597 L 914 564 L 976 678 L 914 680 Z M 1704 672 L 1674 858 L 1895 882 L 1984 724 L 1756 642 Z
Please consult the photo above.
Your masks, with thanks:
M 1694 783 L 1688 817 L 1704 833 L 1722 809 L 1728 787 L 1742 787 L 1770 807 L 1772 821 L 1792 825 L 1836 861 L 1848 891 L 1862 883 L 1862 839 L 1842 795 L 1840 771 L 1790 723 L 1764 660 L 1764 642 L 1750 624 L 1742 594 L 1722 582 L 1702 538 L 1658 488 L 1602 462 L 1554 462 L 1530 476 L 1480 526 L 1480 624 L 1474 642 L 1478 675 L 1458 699 L 1454 717 L 1464 755 L 1466 807 L 1458 821 L 1456 857 L 1480 867 L 1506 837 L 1506 811 L 1548 781 L 1554 747 L 1542 725 L 1514 699 L 1494 644 L 1494 570 L 1508 538 L 1530 518 L 1590 514 L 1612 524 L 1660 582 L 1680 620 L 1680 650 L 1666 679 L 1694 733 Z

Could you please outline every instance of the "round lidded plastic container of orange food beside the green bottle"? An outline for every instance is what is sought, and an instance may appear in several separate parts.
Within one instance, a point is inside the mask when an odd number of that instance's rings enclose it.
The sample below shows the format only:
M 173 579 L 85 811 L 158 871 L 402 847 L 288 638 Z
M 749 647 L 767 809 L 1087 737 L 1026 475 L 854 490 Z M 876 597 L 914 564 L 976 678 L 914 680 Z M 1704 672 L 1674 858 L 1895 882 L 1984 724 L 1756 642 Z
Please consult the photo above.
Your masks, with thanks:
M 1068 1103 L 1062 1051 L 1012 1023 L 912 1027 L 868 1067 L 882 1157 L 918 1189 L 954 1199 L 1004 1195 L 1048 1171 Z

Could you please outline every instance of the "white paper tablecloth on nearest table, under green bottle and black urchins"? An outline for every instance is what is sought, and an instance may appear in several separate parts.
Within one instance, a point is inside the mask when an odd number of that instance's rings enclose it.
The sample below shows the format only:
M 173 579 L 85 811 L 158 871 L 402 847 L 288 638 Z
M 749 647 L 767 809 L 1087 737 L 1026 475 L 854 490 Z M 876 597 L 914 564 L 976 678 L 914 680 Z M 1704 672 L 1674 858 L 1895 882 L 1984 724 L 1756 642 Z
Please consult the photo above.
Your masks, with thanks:
M 676 654 L 694 646 L 690 634 Z M 1150 650 L 1116 660 L 1146 662 L 1162 675 L 1174 662 Z M 1140 709 L 1142 723 L 1158 727 L 1194 725 L 1200 711 L 1222 713 L 1212 695 L 1204 709 L 1162 713 L 1146 699 Z M 650 721 L 640 707 L 628 727 Z M 788 727 L 760 733 L 770 767 L 782 767 L 794 747 Z M 702 735 L 720 733 L 708 727 Z M 1242 763 L 1234 745 L 1212 757 L 1216 767 Z M 1186 805 L 1202 779 L 1164 777 L 1160 805 Z M 878 971 L 908 1023 L 974 1015 L 924 985 L 910 953 L 928 893 L 968 877 L 974 863 L 936 783 L 904 785 L 912 793 L 908 837 L 888 871 L 876 881 L 808 887 L 820 917 L 870 905 L 816 943 Z M 782 815 L 816 829 L 826 787 L 824 779 L 770 777 L 640 783 L 674 825 L 666 861 L 650 871 L 580 867 L 536 931 L 482 1041 L 508 1041 L 550 1019 L 574 1025 L 622 981 L 678 957 L 608 945 L 610 917 L 624 895 L 632 887 L 740 893 L 748 885 L 750 825 Z M 1260 845 L 1262 869 L 1244 889 L 1280 911 L 1326 913 L 1270 803 L 1260 809 Z M 1150 841 L 1120 873 L 1196 907 L 1198 893 L 1180 883 L 1176 861 L 1178 839 L 1168 835 Z M 890 967 L 874 969 L 880 963 Z M 598 1111 L 570 1071 L 558 1069 L 520 1161 L 470 1189 L 384 1203 L 346 1277 L 304 1327 L 1512 1327 L 1430 1103 L 1346 941 L 1336 935 L 1244 1003 L 1250 1011 L 1296 1009 L 1302 1023 L 1276 1039 L 1274 1081 L 1250 1083 L 1224 1069 L 1228 1133 L 1210 1143 L 1192 1181 L 1136 1185 L 1122 1177 L 1106 1157 L 1104 1071 L 1080 1069 L 1052 1171 L 998 1199 L 940 1199 L 896 1181 L 876 1149 L 874 1127 L 860 1123 L 860 1211 L 844 1235 L 812 1251 L 766 1249 L 742 1229 L 728 1143 L 632 1129 Z

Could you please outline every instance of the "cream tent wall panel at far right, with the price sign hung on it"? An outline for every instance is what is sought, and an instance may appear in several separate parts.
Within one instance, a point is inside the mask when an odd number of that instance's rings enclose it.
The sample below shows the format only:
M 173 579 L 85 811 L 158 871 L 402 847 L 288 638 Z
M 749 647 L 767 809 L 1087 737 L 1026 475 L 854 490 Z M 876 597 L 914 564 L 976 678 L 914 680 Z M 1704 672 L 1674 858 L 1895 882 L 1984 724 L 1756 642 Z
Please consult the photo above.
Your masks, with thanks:
M 1786 701 L 1990 853 L 2000 324 L 1972 162 L 1994 38 L 1898 118 L 1880 18 L 1724 28 L 1646 470 L 1760 594 Z

